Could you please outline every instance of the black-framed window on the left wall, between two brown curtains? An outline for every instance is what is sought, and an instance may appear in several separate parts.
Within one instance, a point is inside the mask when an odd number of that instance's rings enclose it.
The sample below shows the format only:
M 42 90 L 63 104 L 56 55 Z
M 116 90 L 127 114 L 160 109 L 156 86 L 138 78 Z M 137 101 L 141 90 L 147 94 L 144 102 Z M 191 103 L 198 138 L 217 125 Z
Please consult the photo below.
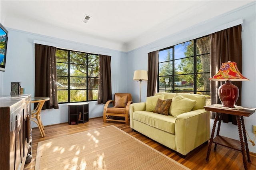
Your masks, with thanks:
M 59 103 L 98 99 L 98 55 L 57 49 L 56 64 Z

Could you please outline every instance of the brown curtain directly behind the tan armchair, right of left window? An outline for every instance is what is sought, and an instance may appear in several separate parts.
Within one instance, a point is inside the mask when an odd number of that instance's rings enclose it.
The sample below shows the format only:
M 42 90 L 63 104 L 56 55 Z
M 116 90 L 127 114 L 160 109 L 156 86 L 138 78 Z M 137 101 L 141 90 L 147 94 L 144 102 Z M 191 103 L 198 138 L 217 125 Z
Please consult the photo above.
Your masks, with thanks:
M 111 90 L 111 56 L 99 55 L 99 89 L 98 104 L 112 99 Z

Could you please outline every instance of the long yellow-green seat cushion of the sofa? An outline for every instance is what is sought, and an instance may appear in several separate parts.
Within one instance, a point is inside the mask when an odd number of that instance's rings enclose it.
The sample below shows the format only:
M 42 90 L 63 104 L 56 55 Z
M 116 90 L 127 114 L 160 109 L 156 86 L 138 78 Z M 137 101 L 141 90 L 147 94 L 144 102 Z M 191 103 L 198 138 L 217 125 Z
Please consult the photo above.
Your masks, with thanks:
M 173 116 L 165 116 L 148 111 L 135 111 L 133 113 L 133 119 L 151 127 L 174 134 L 175 117 Z

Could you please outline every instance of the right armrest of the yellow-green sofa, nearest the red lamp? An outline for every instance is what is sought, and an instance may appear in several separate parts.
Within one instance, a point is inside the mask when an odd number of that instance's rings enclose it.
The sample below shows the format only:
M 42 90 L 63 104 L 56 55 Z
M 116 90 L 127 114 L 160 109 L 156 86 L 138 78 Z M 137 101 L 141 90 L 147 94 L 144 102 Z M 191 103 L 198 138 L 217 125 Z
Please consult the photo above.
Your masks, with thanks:
M 174 130 L 177 151 L 186 155 L 210 139 L 210 112 L 197 109 L 178 115 Z

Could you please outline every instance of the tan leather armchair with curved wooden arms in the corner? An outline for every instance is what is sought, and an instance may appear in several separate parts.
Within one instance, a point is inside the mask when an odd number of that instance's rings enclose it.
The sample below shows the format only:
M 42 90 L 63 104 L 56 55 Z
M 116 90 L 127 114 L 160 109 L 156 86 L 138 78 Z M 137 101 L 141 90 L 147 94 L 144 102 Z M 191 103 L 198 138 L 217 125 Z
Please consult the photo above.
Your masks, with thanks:
M 113 107 L 109 107 L 110 103 L 113 103 Z M 105 104 L 103 122 L 116 121 L 129 124 L 129 107 L 131 103 L 132 95 L 130 93 L 115 93 L 114 100 L 109 100 Z M 125 119 L 123 120 L 123 118 Z

